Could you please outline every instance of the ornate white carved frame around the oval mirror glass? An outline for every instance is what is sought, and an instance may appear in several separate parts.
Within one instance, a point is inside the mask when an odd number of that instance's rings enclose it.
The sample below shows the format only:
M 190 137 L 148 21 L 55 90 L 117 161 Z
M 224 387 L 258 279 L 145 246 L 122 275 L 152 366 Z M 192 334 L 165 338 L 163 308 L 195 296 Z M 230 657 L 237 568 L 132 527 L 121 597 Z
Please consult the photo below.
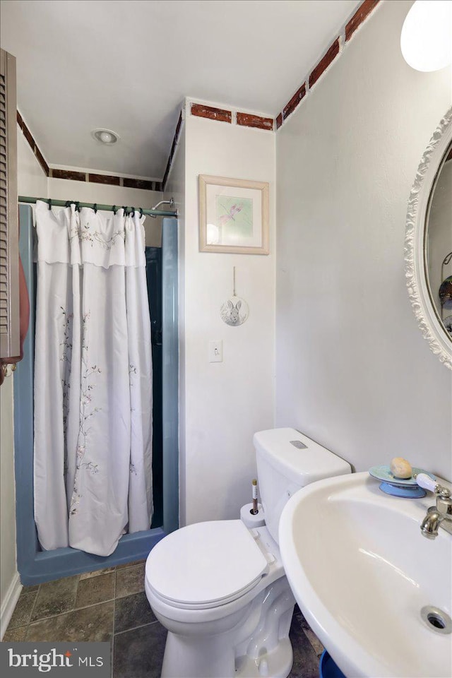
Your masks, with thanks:
M 405 232 L 405 277 L 417 323 L 441 362 L 452 369 L 452 340 L 439 321 L 429 293 L 426 270 L 426 220 L 430 196 L 436 185 L 444 154 L 451 143 L 452 108 L 441 119 L 425 150 L 412 185 Z

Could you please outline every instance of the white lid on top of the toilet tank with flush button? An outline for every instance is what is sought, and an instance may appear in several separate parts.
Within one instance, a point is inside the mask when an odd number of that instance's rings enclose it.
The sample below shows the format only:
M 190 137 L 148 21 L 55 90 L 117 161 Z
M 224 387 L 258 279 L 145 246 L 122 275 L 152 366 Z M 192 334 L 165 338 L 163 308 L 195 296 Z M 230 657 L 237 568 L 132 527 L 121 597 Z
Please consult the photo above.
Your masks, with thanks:
M 254 434 L 256 452 L 300 487 L 352 471 L 350 464 L 296 429 L 268 429 Z

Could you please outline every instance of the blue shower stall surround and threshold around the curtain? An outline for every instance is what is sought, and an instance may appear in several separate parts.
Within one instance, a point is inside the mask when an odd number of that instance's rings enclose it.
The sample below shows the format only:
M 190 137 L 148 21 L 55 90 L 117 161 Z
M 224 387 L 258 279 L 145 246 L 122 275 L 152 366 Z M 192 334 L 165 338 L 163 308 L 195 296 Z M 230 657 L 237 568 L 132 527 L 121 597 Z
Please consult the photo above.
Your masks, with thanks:
M 30 206 L 19 206 L 20 218 L 20 256 L 23 262 L 30 299 L 35 299 L 35 279 L 33 273 L 32 251 L 35 232 L 32 226 Z M 144 559 L 150 549 L 166 534 L 178 526 L 178 477 L 177 477 L 177 326 L 166 328 L 166 321 L 177 322 L 177 220 L 165 219 L 168 231 L 163 238 L 164 247 L 175 248 L 174 252 L 164 252 L 164 278 L 162 285 L 162 308 L 171 308 L 165 315 L 162 312 L 162 333 L 167 334 L 169 346 L 165 353 L 174 351 L 175 355 L 164 356 L 163 362 L 163 525 L 132 535 L 124 535 L 115 552 L 108 557 L 95 556 L 78 549 L 64 548 L 53 551 L 41 551 L 37 540 L 33 511 L 33 359 L 34 337 L 28 332 L 24 344 L 24 357 L 18 364 L 14 375 L 14 449 L 16 473 L 16 530 L 17 563 L 20 581 L 24 585 L 33 585 L 51 581 L 76 573 L 101 569 L 108 566 Z M 166 245 L 165 245 L 166 243 Z M 174 261 L 175 256 L 175 261 Z M 174 268 L 174 266 L 176 268 Z M 165 278 L 165 271 L 167 277 Z M 169 275 L 172 276 L 169 279 Z M 35 325 L 35 309 L 31 304 L 30 328 Z M 174 343 L 174 338 L 176 343 Z M 166 364 L 166 368 L 165 368 Z M 165 406 L 166 402 L 166 406 Z M 174 420 L 174 417 L 175 420 Z M 170 429 L 170 430 L 169 430 Z M 174 457 L 174 458 L 173 458 Z M 166 477 L 165 474 L 171 477 Z

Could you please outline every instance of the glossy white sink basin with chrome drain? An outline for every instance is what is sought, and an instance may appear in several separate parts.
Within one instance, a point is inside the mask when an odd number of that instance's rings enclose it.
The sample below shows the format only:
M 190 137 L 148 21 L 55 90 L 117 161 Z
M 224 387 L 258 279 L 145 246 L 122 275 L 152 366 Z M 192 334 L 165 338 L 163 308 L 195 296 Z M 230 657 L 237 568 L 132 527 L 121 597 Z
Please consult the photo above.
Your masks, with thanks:
M 314 482 L 285 506 L 287 578 L 347 678 L 452 676 L 452 634 L 421 617 L 424 606 L 452 616 L 452 537 L 420 532 L 432 504 L 383 494 L 364 472 Z

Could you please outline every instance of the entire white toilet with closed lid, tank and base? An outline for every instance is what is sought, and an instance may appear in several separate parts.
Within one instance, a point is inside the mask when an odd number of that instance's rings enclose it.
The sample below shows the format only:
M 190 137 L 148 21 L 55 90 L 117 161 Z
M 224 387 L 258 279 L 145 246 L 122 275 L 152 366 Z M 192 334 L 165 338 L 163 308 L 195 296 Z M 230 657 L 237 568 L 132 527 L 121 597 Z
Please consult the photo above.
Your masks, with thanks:
M 305 485 L 350 464 L 295 429 L 254 434 L 266 524 L 187 525 L 150 552 L 145 592 L 166 627 L 162 678 L 287 678 L 295 598 L 278 548 L 281 512 Z

